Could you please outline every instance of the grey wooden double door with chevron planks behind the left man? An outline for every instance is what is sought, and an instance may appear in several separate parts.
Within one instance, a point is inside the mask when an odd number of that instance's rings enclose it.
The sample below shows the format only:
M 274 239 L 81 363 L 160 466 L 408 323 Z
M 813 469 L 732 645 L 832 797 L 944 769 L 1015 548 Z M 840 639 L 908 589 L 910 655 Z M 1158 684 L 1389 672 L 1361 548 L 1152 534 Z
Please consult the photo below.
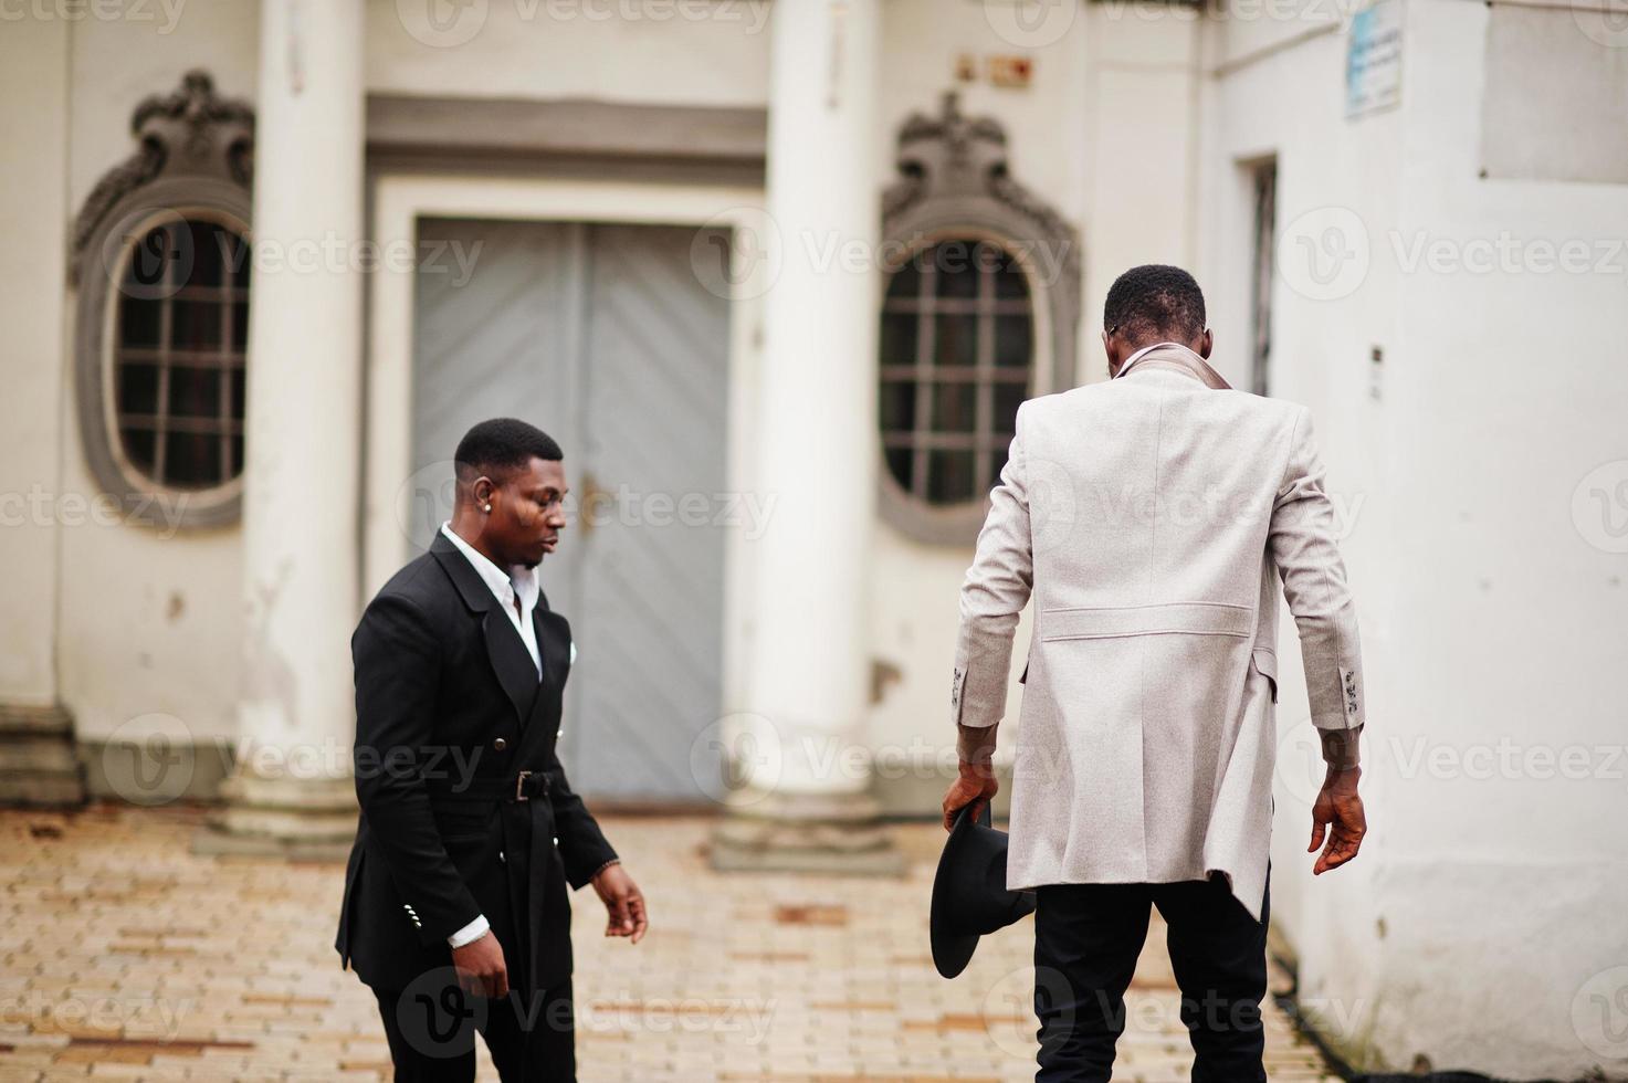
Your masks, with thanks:
M 420 489 L 448 500 L 449 484 L 422 479 L 449 482 L 482 419 L 524 419 L 565 449 L 576 503 L 540 577 L 578 650 L 560 743 L 571 785 L 630 801 L 716 793 L 698 738 L 721 704 L 729 311 L 695 277 L 695 231 L 423 220 L 418 233 Z M 414 544 L 446 513 L 414 515 Z

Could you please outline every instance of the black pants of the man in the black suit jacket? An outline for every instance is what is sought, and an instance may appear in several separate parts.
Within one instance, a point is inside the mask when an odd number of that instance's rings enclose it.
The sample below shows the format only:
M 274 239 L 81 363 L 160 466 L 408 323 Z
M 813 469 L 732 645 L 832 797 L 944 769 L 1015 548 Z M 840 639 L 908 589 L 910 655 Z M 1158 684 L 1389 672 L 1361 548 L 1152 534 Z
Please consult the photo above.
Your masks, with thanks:
M 475 1033 L 487 1042 L 503 1083 L 575 1083 L 576 1034 L 571 984 L 540 997 L 466 997 L 435 971 L 405 990 L 374 989 L 397 1083 L 457 1083 L 475 1078 Z

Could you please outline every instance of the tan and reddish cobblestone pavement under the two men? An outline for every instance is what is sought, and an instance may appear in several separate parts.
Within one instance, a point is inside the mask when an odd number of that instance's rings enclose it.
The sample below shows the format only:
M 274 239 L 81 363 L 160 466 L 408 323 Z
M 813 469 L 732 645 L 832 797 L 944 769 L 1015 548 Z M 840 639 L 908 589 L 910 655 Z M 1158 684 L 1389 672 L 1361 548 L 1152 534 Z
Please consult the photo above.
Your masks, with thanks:
M 332 949 L 344 870 L 195 857 L 202 813 L 0 813 L 0 1080 L 378 1080 L 373 1000 Z M 650 899 L 641 945 L 576 904 L 584 1083 L 1034 1078 L 1032 925 L 933 971 L 943 832 L 899 827 L 905 879 L 718 875 L 708 821 L 606 818 Z M 1275 980 L 1281 980 L 1276 976 Z M 1115 1080 L 1185 1080 L 1154 914 Z M 1273 1080 L 1333 1080 L 1273 1008 Z M 482 1057 L 482 1078 L 497 1078 Z

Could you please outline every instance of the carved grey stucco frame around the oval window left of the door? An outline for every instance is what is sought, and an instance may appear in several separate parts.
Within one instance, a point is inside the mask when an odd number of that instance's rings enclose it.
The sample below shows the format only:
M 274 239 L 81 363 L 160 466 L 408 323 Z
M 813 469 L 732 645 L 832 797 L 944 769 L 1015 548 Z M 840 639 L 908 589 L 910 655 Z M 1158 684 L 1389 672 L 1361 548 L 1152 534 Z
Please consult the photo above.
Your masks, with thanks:
M 194 70 L 176 91 L 145 98 L 130 116 L 130 132 L 138 147 L 85 199 L 68 256 L 70 285 L 78 287 L 73 383 L 85 463 L 130 521 L 223 526 L 243 506 L 241 471 L 213 489 L 168 489 L 124 453 L 111 394 L 116 283 L 132 244 L 161 221 L 205 220 L 249 236 L 254 111 L 218 98 L 213 78 Z

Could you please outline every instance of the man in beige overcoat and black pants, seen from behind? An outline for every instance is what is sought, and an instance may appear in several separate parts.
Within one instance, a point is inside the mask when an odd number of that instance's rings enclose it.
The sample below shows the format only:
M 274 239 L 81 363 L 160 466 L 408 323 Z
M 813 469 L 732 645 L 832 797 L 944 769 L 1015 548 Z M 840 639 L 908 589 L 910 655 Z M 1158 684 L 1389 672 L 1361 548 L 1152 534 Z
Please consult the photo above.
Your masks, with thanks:
M 1193 1080 L 1262 1068 L 1278 580 L 1328 774 L 1315 873 L 1351 860 L 1364 687 L 1306 407 L 1210 368 L 1177 267 L 1109 290 L 1110 379 L 1024 402 L 961 591 L 946 824 L 995 795 L 1017 614 L 1034 596 L 1008 888 L 1034 889 L 1042 1081 L 1105 1081 L 1149 905 L 1169 925 Z

